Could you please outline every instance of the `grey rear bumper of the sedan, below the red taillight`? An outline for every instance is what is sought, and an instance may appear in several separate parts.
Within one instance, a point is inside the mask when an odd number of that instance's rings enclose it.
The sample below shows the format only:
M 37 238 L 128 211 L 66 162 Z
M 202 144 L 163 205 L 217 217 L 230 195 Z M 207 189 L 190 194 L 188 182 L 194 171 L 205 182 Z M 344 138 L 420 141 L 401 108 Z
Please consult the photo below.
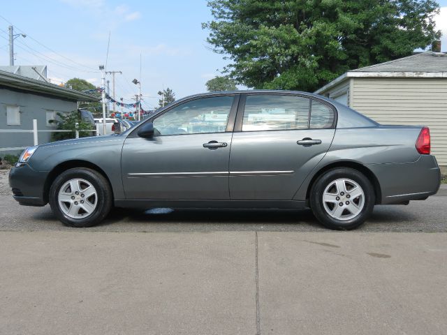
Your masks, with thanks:
M 400 204 L 425 200 L 441 185 L 441 170 L 436 158 L 421 155 L 412 163 L 368 164 L 381 187 L 381 204 Z

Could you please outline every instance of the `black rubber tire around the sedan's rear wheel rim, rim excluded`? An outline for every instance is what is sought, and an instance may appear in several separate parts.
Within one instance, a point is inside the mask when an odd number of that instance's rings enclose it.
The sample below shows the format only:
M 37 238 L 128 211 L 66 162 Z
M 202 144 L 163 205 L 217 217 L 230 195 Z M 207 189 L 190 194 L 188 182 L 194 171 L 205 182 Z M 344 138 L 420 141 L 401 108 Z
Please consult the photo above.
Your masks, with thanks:
M 354 181 L 362 188 L 364 194 L 363 197 L 364 200 L 362 202 L 363 207 L 358 212 L 358 214 L 356 214 L 356 216 L 353 218 L 349 218 L 346 220 L 337 219 L 335 217 L 332 217 L 328 213 L 328 210 L 325 209 L 325 206 L 323 204 L 323 193 L 325 191 L 325 188 L 330 187 L 330 184 L 334 183 L 337 179 L 350 179 L 351 181 Z M 341 201 L 344 200 L 349 199 L 344 198 Z M 369 179 L 365 177 L 364 174 L 362 174 L 358 170 L 354 170 L 351 168 L 334 168 L 332 170 L 324 172 L 320 177 L 318 177 L 318 179 L 316 179 L 310 191 L 309 201 L 314 216 L 316 216 L 318 221 L 320 221 L 320 223 L 324 225 L 326 228 L 332 230 L 352 230 L 358 228 L 360 225 L 362 225 L 362 223 L 364 223 L 367 220 L 367 218 L 369 218 L 369 216 L 372 213 L 372 210 L 374 209 L 376 196 L 374 193 L 374 187 L 372 186 Z M 360 198 L 357 198 L 356 201 L 360 201 Z M 327 207 L 328 204 L 330 203 L 326 202 Z M 345 206 L 346 202 L 339 202 L 335 204 L 335 206 L 338 205 L 341 206 L 340 208 L 343 208 L 342 206 Z M 335 207 L 332 208 L 335 209 Z M 346 213 L 347 214 L 346 217 L 350 216 L 349 211 L 343 210 L 342 213 Z

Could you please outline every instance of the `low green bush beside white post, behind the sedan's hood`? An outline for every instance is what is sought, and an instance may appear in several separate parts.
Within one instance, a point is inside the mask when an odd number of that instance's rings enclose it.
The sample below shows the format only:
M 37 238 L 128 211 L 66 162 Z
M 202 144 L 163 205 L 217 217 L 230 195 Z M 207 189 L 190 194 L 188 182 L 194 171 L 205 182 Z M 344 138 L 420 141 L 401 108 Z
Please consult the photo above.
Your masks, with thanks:
M 91 136 L 92 133 L 89 131 L 81 131 L 81 130 L 91 130 L 93 126 L 82 119 L 81 114 L 78 110 L 75 110 L 70 113 L 57 113 L 58 119 L 57 120 L 50 120 L 50 122 L 57 125 L 57 129 L 64 130 L 67 132 L 64 133 L 52 133 L 52 140 L 53 141 L 59 141 L 59 140 L 67 140 L 69 138 L 75 138 L 75 131 L 78 129 L 79 137 L 87 137 Z M 78 128 L 76 128 L 76 124 L 78 124 Z M 71 133 L 68 133 L 68 131 L 72 131 Z

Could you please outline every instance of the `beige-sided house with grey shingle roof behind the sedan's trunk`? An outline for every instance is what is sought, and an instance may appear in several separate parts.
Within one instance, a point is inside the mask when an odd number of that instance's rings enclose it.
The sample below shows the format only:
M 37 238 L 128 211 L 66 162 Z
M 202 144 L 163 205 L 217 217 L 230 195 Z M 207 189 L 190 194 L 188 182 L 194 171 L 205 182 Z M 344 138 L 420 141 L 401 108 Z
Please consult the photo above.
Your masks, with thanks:
M 422 52 L 351 70 L 315 93 L 380 124 L 430 127 L 432 154 L 447 174 L 447 54 Z

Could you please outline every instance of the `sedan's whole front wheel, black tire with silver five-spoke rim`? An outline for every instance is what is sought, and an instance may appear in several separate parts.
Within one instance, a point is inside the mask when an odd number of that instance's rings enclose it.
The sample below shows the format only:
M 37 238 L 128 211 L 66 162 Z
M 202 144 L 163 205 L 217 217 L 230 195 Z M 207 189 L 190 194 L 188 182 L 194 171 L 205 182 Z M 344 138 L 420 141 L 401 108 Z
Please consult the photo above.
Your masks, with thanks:
M 50 188 L 50 206 L 59 220 L 72 227 L 100 223 L 112 207 L 112 190 L 102 174 L 87 168 L 66 170 Z

